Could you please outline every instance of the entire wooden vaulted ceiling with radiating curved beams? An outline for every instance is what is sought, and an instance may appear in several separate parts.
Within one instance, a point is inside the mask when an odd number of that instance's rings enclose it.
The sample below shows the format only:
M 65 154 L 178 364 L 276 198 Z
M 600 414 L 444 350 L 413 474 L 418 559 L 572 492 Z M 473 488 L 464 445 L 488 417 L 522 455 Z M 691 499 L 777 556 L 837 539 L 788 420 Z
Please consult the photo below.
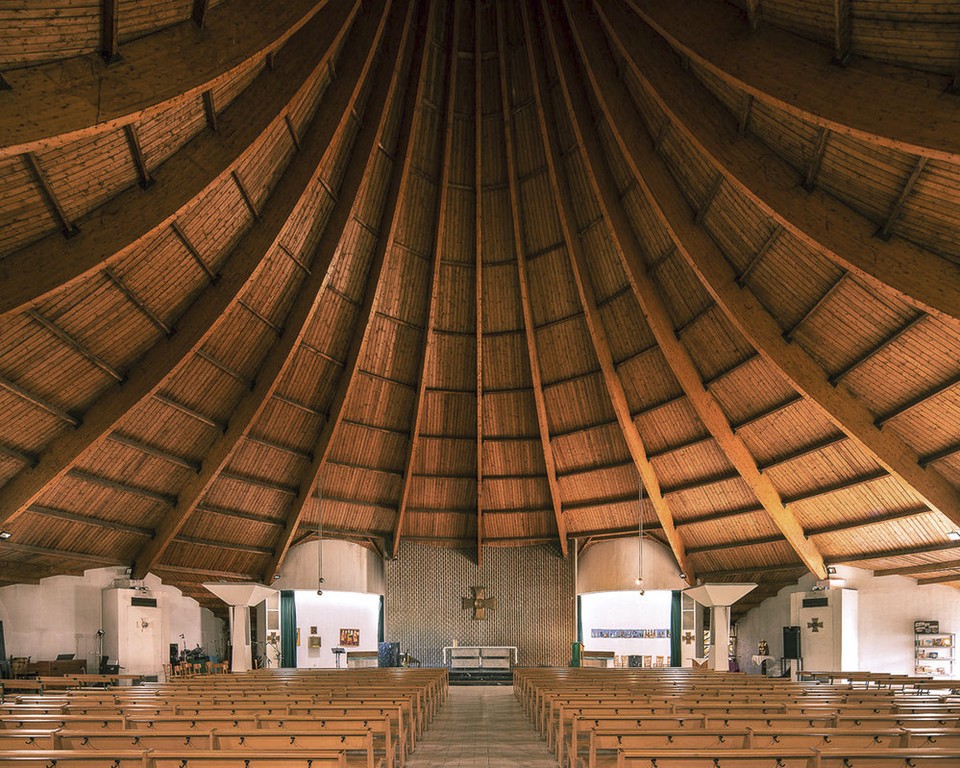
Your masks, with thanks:
M 960 580 L 960 16 L 741 5 L 0 10 L 0 584 Z

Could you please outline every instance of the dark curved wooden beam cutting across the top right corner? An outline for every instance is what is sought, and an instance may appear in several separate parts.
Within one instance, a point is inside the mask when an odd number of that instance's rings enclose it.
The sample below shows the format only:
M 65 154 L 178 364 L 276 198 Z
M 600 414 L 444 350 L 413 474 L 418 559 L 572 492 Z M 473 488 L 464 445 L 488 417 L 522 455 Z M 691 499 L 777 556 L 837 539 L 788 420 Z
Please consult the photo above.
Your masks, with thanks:
M 761 104 L 868 144 L 960 160 L 960 112 L 937 78 L 875 62 L 833 66 L 819 43 L 769 24 L 751 33 L 715 0 L 626 2 L 678 53 Z

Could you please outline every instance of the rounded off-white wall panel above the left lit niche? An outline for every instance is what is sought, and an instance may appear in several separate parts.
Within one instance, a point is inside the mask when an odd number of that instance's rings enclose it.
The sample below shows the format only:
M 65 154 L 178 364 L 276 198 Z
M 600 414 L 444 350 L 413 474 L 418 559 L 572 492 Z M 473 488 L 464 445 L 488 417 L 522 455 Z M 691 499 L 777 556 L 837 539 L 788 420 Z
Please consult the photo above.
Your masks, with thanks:
M 308 541 L 291 547 L 283 561 L 276 589 L 317 591 L 317 546 Z M 350 541 L 324 539 L 323 590 L 384 593 L 383 560 L 369 549 Z

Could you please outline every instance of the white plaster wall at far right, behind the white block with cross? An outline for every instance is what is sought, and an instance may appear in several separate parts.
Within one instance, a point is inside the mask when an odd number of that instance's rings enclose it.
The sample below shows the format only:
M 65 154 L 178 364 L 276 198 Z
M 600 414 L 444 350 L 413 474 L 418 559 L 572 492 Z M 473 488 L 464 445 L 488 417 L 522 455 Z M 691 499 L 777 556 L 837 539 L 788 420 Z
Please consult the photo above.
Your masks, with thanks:
M 871 571 L 837 566 L 842 586 L 859 592 L 859 667 L 871 672 L 913 674 L 916 619 L 935 619 L 942 632 L 960 634 L 960 591 L 939 584 L 919 585 L 904 576 L 874 577 Z M 804 592 L 816 584 L 807 575 L 785 587 L 744 616 L 737 625 L 737 657 L 740 669 L 757 672 L 750 656 L 761 639 L 770 644 L 770 655 L 783 653 L 783 630 L 790 622 L 790 594 Z M 955 675 L 960 669 L 954 670 Z

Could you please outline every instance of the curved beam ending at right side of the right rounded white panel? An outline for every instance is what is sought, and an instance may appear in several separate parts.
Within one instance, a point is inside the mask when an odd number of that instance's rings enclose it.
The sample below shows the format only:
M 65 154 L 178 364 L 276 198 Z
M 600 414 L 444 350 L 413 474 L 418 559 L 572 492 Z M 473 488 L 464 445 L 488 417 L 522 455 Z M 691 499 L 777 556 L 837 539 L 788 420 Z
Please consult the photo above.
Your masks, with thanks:
M 677 560 L 680 571 L 687 575 L 691 583 L 696 583 L 696 576 L 687 559 L 683 539 L 680 537 L 674 524 L 673 513 L 670 511 L 670 506 L 661 492 L 660 480 L 653 469 L 653 465 L 647 458 L 646 446 L 643 443 L 643 438 L 640 435 L 640 430 L 637 428 L 636 422 L 630 415 L 630 405 L 627 402 L 626 391 L 623 388 L 623 382 L 620 380 L 616 366 L 613 363 L 613 353 L 610 350 L 610 342 L 597 308 L 597 297 L 593 287 L 593 280 L 590 277 L 586 257 L 580 245 L 580 235 L 575 223 L 576 210 L 573 204 L 573 197 L 569 185 L 566 183 L 566 180 L 561 177 L 558 167 L 561 153 L 559 139 L 554 124 L 547 119 L 544 94 L 546 76 L 542 71 L 542 57 L 536 56 L 533 50 L 536 37 L 531 26 L 530 13 L 526 5 L 521 6 L 521 15 L 528 43 L 527 63 L 530 67 L 534 104 L 540 123 L 540 134 L 544 145 L 544 153 L 547 158 L 547 171 L 550 177 L 550 185 L 556 198 L 557 215 L 560 219 L 560 226 L 563 229 L 563 238 L 566 242 L 567 252 L 570 257 L 570 267 L 573 272 L 574 281 L 577 284 L 580 304 L 583 306 L 587 330 L 593 342 L 597 361 L 600 363 L 600 370 L 603 372 L 603 380 L 607 393 L 610 396 L 610 404 L 613 406 L 613 410 L 617 415 L 617 422 L 620 425 L 620 431 L 623 433 L 623 439 L 627 444 L 627 449 L 630 451 L 630 456 L 633 458 L 633 463 L 636 465 L 637 472 L 640 473 L 642 487 L 647 489 L 650 503 L 656 512 L 657 519 L 660 521 L 663 535 L 673 552 L 673 556 Z M 642 509 L 640 510 L 640 514 L 642 514 Z

